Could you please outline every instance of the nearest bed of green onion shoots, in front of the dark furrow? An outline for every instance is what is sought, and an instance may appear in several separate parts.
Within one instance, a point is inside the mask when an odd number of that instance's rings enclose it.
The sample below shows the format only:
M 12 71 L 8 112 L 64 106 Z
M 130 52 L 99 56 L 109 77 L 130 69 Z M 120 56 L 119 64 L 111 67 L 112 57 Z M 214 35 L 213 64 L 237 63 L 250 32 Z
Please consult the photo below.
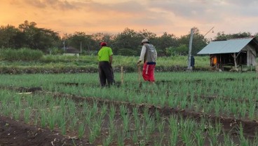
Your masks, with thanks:
M 49 128 L 62 135 L 87 139 L 95 145 L 254 145 L 240 124 L 237 135 L 225 132 L 222 124 L 205 117 L 170 115 L 144 108 L 75 102 L 55 98 L 52 93 L 23 94 L 0 91 L 0 113 L 17 121 Z

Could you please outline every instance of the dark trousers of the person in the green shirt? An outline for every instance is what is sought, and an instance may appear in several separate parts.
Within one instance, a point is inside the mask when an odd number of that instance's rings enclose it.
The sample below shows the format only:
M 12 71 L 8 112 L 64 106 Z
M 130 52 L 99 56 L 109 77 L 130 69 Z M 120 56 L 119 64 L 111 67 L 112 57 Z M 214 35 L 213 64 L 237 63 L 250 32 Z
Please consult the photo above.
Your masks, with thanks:
M 109 65 L 109 62 L 107 61 L 100 61 L 99 62 L 99 77 L 100 77 L 100 85 L 106 86 L 106 83 L 108 86 L 113 84 L 113 73 L 112 69 Z

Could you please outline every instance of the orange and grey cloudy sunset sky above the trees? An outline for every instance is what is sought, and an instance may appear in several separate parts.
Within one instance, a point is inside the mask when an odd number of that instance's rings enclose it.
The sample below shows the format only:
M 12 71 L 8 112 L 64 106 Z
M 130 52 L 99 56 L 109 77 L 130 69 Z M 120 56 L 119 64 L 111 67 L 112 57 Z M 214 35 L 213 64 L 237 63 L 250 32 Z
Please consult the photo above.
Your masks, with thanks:
M 1 0 L 0 25 L 25 20 L 60 34 L 105 32 L 128 27 L 182 36 L 197 27 L 205 37 L 217 32 L 258 32 L 257 0 Z

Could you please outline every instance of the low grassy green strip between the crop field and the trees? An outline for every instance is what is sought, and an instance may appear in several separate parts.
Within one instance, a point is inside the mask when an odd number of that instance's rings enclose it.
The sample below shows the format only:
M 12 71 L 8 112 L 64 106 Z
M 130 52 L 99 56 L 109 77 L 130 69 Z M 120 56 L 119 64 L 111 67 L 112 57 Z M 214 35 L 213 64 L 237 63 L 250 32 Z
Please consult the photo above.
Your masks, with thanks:
M 9 50 L 8 50 L 9 51 Z M 16 53 L 14 53 L 16 54 Z M 0 55 L 1 56 L 1 55 Z M 113 56 L 114 72 L 137 72 L 137 60 L 139 56 Z M 175 55 L 170 57 L 158 57 L 156 72 L 177 72 L 187 68 L 187 56 Z M 10 58 L 11 59 L 11 58 Z M 196 70 L 208 70 L 208 56 L 195 57 Z M 79 73 L 97 72 L 98 61 L 96 55 L 81 55 L 79 57 L 69 55 L 43 55 L 40 59 L 13 60 L 0 58 L 0 73 L 23 74 L 23 73 Z

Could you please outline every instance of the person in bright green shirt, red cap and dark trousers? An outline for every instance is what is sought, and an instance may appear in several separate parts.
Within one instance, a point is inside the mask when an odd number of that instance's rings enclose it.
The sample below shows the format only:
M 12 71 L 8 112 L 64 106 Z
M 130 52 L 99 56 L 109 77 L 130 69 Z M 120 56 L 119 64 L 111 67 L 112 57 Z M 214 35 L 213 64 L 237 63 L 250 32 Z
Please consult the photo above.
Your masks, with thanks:
M 100 43 L 100 51 L 97 53 L 97 60 L 99 61 L 99 77 L 100 85 L 110 86 L 114 83 L 114 75 L 112 71 L 113 52 L 106 42 Z M 107 84 L 107 85 L 106 85 Z

